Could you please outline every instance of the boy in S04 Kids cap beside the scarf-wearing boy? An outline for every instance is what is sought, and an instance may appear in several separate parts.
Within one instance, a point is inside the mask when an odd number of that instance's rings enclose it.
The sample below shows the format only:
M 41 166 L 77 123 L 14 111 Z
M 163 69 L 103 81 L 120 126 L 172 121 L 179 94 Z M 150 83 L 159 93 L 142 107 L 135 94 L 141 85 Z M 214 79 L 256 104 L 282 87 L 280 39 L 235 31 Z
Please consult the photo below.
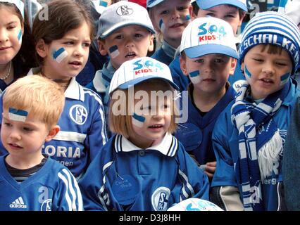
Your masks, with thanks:
M 218 18 L 196 18 L 182 34 L 180 66 L 191 81 L 189 117 L 175 136 L 209 178 L 216 164 L 211 143 L 213 127 L 236 94 L 227 82 L 238 58 L 234 37 L 230 24 Z

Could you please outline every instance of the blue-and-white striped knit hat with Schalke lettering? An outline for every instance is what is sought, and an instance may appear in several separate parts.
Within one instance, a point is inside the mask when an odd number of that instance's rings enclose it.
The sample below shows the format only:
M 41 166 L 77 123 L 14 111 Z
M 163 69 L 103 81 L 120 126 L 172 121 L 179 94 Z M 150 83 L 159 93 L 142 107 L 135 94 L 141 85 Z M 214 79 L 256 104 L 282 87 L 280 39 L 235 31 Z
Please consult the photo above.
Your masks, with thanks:
M 274 11 L 257 13 L 244 28 L 239 46 L 242 63 L 246 53 L 258 44 L 273 44 L 285 49 L 293 63 L 292 75 L 299 63 L 300 32 L 289 16 Z

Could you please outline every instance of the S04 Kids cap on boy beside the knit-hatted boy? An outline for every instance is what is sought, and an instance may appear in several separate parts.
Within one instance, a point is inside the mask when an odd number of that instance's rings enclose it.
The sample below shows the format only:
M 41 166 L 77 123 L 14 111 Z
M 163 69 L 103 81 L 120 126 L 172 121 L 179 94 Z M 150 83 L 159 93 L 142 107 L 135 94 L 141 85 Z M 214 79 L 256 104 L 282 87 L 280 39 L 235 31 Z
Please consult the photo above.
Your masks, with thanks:
M 235 34 L 225 20 L 206 17 L 196 18 L 182 33 L 180 53 L 185 51 L 189 58 L 211 53 L 220 53 L 238 58 Z

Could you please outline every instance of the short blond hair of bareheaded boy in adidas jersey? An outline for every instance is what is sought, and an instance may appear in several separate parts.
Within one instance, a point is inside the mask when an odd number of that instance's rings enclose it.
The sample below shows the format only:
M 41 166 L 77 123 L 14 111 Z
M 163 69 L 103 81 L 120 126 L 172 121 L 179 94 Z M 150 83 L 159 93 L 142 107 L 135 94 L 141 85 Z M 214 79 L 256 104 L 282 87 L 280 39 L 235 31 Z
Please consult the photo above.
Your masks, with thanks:
M 38 75 L 17 79 L 4 91 L 3 108 L 26 110 L 49 127 L 57 124 L 65 96 L 56 82 Z

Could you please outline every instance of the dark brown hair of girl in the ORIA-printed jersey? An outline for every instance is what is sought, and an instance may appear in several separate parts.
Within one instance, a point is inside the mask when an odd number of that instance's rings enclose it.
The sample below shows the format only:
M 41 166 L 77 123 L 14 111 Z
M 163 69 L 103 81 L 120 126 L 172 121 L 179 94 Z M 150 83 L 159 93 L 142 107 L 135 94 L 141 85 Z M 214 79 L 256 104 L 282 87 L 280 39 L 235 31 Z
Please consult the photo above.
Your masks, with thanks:
M 78 4 L 72 0 L 54 0 L 39 11 L 46 11 L 48 13 L 47 20 L 39 20 L 36 16 L 32 25 L 32 34 L 35 39 L 35 44 L 39 39 L 43 39 L 45 44 L 51 44 L 52 41 L 63 38 L 63 36 L 70 30 L 76 29 L 87 23 L 90 27 L 91 41 L 94 39 L 94 24 L 87 13 L 87 10 L 82 4 Z M 37 13 L 39 14 L 39 13 Z M 42 63 L 42 57 L 35 54 L 37 62 Z

